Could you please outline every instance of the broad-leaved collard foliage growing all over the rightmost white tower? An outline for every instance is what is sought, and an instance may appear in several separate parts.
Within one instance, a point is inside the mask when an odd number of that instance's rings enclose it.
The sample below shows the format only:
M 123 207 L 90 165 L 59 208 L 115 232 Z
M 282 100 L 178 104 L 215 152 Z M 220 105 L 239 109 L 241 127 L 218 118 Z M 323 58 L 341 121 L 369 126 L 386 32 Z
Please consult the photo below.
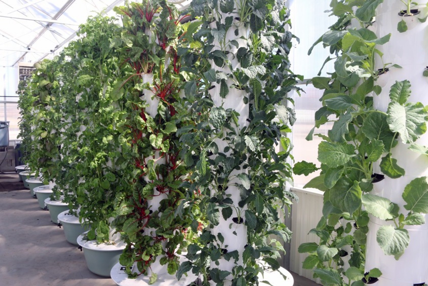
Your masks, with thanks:
M 380 277 L 382 269 L 364 272 L 369 214 L 392 221 L 380 227 L 377 242 L 386 255 L 394 255 L 396 259 L 410 240 L 404 226 L 425 223 L 420 214 L 426 211 L 421 204 L 426 197 L 425 177 L 413 180 L 402 190 L 407 203 L 405 210 L 386 198 L 370 194 L 373 184 L 383 179 L 383 175 L 374 173 L 375 166 L 389 178 L 404 176 L 405 170 L 394 158 L 394 147 L 398 140 L 414 143 L 425 133 L 428 118 L 422 103 L 408 102 L 407 80 L 392 85 L 386 112 L 373 106 L 373 97 L 382 92 L 376 80 L 386 76 L 383 74 L 386 65 L 392 67 L 385 64 L 384 69 L 375 69 L 374 56 L 381 56 L 377 45 L 385 44 L 390 37 L 378 38 L 369 29 L 381 2 L 332 1 L 331 12 L 339 19 L 317 41 L 330 48 L 333 59 L 328 57 L 326 62 L 335 60 L 334 72 L 330 77 L 312 79 L 316 88 L 324 90 L 320 99 L 323 107 L 315 113 L 315 127 L 307 139 L 312 140 L 315 128 L 326 122 L 333 122 L 333 127 L 328 136 L 315 134 L 323 139 L 318 146 L 321 166 L 303 161 L 293 170 L 305 175 L 321 170 L 305 186 L 324 191 L 323 217 L 311 230 L 320 242 L 302 244 L 299 252 L 309 253 L 303 268 L 314 269 L 314 276 L 324 285 L 330 285 L 331 281 L 335 285 L 363 285 L 363 278 Z M 351 26 L 351 20 L 359 27 Z M 410 146 L 423 152 L 422 146 Z

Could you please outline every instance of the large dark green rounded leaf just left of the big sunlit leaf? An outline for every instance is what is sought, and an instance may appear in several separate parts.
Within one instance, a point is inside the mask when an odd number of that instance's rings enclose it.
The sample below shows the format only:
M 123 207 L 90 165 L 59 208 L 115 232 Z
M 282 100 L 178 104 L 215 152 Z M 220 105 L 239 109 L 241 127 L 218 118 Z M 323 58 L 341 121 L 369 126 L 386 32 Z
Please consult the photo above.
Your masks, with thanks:
M 396 145 L 393 143 L 395 134 L 389 129 L 386 114 L 380 111 L 370 113 L 363 122 L 363 133 L 369 139 L 382 140 L 385 151 L 389 152 Z

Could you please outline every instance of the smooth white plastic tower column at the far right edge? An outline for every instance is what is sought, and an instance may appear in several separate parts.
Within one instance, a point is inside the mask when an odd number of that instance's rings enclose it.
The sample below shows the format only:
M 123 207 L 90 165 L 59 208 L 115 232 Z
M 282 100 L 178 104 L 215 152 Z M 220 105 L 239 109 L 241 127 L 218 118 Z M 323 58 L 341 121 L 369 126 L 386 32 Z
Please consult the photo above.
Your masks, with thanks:
M 419 10 L 417 17 L 426 15 L 425 4 L 428 2 L 418 1 Z M 410 102 L 420 101 L 428 104 L 426 92 L 428 90 L 428 78 L 422 73 L 428 66 L 428 22 L 420 23 L 415 16 L 402 17 L 398 13 L 407 7 L 400 0 L 385 0 L 377 8 L 375 21 L 375 32 L 378 37 L 391 33 L 391 39 L 385 45 L 377 48 L 383 52 L 383 63 L 394 63 L 402 66 L 402 69 L 391 68 L 385 74 L 380 75 L 377 84 L 382 87 L 379 96 L 374 97 L 375 107 L 386 111 L 389 104 L 389 90 L 396 80 L 409 80 L 412 94 Z M 412 8 L 413 9 L 413 8 Z M 406 21 L 408 30 L 399 33 L 397 24 Z M 377 68 L 382 68 L 383 63 L 377 60 Z M 399 138 L 400 139 L 400 138 Z M 428 134 L 423 135 L 416 143 L 428 146 Z M 404 187 L 413 179 L 428 176 L 428 157 L 417 154 L 407 149 L 409 144 L 398 143 L 392 149 L 392 157 L 398 160 L 398 165 L 405 169 L 405 176 L 398 179 L 390 179 L 385 176 L 381 182 L 374 184 L 372 194 L 386 197 L 400 206 L 400 211 L 407 213 L 404 209 L 405 202 L 401 197 Z M 375 173 L 380 173 L 379 168 Z M 428 216 L 425 215 L 425 219 Z M 367 235 L 366 271 L 379 268 L 382 276 L 375 283 L 377 286 L 413 286 L 428 282 L 428 224 L 422 226 L 405 226 L 410 234 L 410 244 L 400 259 L 395 260 L 393 256 L 386 256 L 376 241 L 376 232 L 380 226 L 391 225 L 391 222 L 370 217 L 369 233 Z M 423 285 L 423 284 L 422 284 Z

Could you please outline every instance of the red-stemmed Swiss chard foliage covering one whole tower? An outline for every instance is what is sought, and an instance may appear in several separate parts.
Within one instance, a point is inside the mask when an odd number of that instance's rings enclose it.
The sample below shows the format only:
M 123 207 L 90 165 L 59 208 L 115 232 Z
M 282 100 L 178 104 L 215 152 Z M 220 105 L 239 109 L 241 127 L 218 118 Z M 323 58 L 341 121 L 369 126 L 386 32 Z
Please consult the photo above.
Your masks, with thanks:
M 115 10 L 122 15 L 123 29 L 113 42 L 122 49 L 122 66 L 131 68 L 114 90 L 126 100 L 123 145 L 132 170 L 114 225 L 128 244 L 120 263 L 129 276 L 149 275 L 149 283 L 155 283 L 154 263 L 175 274 L 181 249 L 199 225 L 192 232 L 197 210 L 182 203 L 195 194 L 185 185 L 190 171 L 179 157 L 176 133 L 189 121 L 181 103 L 184 77 L 178 54 L 187 28 L 181 24 L 183 15 L 163 0 Z

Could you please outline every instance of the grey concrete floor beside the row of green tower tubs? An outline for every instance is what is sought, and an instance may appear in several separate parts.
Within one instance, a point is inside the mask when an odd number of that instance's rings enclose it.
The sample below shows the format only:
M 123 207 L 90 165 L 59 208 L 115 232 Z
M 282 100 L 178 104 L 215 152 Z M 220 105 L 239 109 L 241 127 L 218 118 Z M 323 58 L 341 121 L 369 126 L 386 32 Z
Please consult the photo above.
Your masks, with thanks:
M 294 274 L 294 286 L 315 286 Z M 1 286 L 114 286 L 93 274 L 83 252 L 65 240 L 63 230 L 40 209 L 16 174 L 0 174 Z

